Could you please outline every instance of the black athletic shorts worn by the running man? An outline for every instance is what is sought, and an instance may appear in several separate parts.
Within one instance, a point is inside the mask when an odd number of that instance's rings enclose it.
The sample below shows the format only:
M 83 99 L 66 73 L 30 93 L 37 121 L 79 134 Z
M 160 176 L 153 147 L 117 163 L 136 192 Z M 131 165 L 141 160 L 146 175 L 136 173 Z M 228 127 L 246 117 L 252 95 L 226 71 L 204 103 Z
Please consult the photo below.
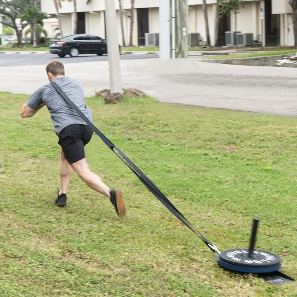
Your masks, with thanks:
M 93 130 L 88 125 L 72 124 L 59 133 L 59 145 L 70 164 L 86 157 L 85 146 L 90 142 Z

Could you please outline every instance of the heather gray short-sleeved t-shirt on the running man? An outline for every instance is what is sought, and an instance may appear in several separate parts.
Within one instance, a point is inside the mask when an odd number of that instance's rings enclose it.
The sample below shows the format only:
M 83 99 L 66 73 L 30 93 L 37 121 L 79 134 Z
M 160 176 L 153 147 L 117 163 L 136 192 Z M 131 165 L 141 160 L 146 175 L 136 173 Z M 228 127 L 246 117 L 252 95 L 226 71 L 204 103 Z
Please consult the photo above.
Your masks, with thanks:
M 54 80 L 70 100 L 81 110 L 81 112 L 93 122 L 91 109 L 85 105 L 83 89 L 80 84 L 69 77 L 58 77 Z M 50 112 L 55 132 L 57 135 L 65 127 L 72 124 L 84 124 L 86 122 L 76 113 L 76 111 L 65 101 L 65 99 L 50 84 L 39 88 L 28 100 L 27 105 L 35 109 L 40 104 L 45 103 Z

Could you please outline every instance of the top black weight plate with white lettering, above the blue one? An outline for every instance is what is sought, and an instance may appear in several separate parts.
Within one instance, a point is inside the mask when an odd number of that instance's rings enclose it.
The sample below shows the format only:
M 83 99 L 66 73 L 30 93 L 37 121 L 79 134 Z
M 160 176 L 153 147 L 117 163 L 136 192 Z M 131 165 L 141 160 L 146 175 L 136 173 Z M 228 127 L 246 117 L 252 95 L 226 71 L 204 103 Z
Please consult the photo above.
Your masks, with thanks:
M 281 258 L 262 250 L 254 250 L 253 258 L 249 258 L 248 249 L 228 249 L 219 255 L 219 260 L 236 266 L 260 268 L 280 265 Z

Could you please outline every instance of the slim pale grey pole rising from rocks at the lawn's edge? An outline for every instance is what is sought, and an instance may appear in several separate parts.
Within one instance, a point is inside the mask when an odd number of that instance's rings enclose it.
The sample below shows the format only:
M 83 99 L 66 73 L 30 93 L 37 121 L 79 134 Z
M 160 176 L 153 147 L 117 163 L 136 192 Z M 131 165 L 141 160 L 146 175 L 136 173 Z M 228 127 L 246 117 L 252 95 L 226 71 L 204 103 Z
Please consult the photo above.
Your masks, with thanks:
M 113 0 L 105 0 L 107 50 L 109 61 L 110 93 L 122 94 L 120 52 L 117 30 L 115 30 L 116 9 Z

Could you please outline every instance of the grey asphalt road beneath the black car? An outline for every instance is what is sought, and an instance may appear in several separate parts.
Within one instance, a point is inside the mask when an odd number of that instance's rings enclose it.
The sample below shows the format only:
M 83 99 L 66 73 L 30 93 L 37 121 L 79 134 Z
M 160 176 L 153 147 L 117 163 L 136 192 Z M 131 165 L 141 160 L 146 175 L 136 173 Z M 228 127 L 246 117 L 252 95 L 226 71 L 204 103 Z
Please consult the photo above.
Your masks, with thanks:
M 120 57 L 121 57 L 121 60 L 138 60 L 138 59 L 156 58 L 157 55 L 122 54 Z M 63 64 L 67 64 L 67 63 L 108 61 L 108 56 L 107 55 L 97 56 L 97 55 L 89 54 L 89 55 L 80 55 L 75 58 L 72 58 L 70 56 L 60 58 L 58 55 L 53 55 L 48 53 L 0 54 L 0 67 L 45 65 L 48 61 L 53 59 L 60 60 Z

